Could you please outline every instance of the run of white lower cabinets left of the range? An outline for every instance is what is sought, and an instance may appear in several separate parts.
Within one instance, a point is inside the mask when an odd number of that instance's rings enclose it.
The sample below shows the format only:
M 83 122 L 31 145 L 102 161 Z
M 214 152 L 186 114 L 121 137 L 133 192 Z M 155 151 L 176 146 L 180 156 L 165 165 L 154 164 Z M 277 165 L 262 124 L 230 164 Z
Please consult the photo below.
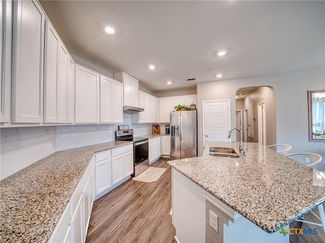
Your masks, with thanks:
M 94 198 L 110 191 L 133 172 L 133 144 L 95 153 L 48 242 L 85 242 Z

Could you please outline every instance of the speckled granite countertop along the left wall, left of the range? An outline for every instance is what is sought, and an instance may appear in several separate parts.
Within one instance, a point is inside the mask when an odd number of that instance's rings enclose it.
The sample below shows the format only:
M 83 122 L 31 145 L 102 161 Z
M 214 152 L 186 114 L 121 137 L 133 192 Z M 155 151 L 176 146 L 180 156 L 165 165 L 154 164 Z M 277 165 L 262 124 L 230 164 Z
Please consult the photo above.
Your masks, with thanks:
M 58 151 L 1 180 L 1 241 L 47 242 L 93 154 L 132 143 Z

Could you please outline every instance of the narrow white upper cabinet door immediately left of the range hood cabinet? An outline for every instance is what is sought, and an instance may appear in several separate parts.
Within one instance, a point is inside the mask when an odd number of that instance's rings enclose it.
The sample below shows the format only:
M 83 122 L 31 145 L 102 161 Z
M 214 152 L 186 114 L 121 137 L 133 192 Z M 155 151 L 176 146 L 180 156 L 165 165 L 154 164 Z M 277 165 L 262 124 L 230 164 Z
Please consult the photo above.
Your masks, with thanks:
M 113 123 L 123 123 L 123 84 L 113 82 Z

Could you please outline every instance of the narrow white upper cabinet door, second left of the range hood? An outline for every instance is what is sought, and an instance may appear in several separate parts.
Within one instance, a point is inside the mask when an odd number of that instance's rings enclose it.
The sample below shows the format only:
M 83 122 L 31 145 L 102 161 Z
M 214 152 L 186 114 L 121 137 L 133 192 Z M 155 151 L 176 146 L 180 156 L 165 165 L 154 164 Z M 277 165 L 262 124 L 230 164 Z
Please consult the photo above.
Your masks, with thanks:
M 101 123 L 113 122 L 113 83 L 112 78 L 101 75 Z

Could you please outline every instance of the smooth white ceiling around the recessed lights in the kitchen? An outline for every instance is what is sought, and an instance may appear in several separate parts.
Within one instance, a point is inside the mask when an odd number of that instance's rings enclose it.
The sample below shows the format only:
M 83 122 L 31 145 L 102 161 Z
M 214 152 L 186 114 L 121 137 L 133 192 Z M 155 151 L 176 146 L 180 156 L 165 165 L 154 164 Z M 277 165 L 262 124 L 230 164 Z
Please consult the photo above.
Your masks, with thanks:
M 325 66 L 324 1 L 40 2 L 71 53 L 152 92 Z

